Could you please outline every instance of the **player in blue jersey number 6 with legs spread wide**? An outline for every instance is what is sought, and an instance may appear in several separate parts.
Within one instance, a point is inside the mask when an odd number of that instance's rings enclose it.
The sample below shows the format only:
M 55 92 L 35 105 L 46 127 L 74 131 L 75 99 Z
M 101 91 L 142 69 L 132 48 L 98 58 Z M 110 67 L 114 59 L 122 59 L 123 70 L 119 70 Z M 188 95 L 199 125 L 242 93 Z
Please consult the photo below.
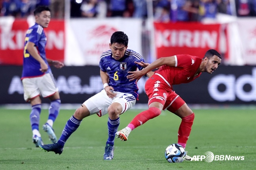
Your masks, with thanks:
M 108 140 L 106 142 L 104 160 L 114 157 L 114 139 L 118 130 L 120 118 L 135 105 L 138 99 L 136 80 L 127 79 L 128 71 L 143 69 L 135 62 L 144 62 L 144 59 L 133 50 L 128 50 L 128 37 L 123 32 L 114 32 L 110 38 L 111 50 L 103 52 L 100 59 L 100 75 L 103 90 L 87 99 L 67 121 L 62 135 L 55 144 L 40 146 L 45 151 L 63 152 L 63 147 L 69 136 L 76 131 L 83 118 L 97 114 L 99 117 L 108 114 Z

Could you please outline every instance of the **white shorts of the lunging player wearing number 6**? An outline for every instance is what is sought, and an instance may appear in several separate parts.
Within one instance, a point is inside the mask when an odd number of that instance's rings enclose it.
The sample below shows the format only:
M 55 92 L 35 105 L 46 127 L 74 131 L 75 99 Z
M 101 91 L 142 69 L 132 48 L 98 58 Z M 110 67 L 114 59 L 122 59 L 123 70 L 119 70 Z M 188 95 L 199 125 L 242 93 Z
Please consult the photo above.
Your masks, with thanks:
M 83 104 L 90 111 L 90 115 L 97 114 L 99 117 L 108 114 L 108 107 L 114 102 L 119 103 L 122 106 L 123 109 L 121 114 L 135 105 L 136 99 L 132 94 L 121 92 L 114 93 L 117 93 L 117 95 L 111 99 L 103 89 L 101 92 L 90 97 Z

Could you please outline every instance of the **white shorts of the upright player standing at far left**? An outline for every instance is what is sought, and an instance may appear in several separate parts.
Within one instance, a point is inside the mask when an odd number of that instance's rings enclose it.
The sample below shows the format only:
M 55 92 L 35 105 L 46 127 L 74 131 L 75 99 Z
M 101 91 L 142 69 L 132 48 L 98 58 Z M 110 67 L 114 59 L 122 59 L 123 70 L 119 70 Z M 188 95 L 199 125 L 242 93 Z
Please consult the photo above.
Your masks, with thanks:
M 46 73 L 40 77 L 23 78 L 24 99 L 30 101 L 38 95 L 49 97 L 58 92 L 52 73 Z

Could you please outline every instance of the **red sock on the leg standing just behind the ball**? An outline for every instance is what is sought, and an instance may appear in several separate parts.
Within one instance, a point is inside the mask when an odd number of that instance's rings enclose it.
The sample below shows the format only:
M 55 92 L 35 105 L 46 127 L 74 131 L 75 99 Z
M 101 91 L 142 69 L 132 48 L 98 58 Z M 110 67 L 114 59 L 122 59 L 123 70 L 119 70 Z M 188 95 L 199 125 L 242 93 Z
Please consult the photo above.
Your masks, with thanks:
M 194 118 L 194 113 L 184 118 L 181 118 L 182 121 L 178 130 L 178 144 L 182 145 L 184 148 L 186 147 L 188 137 L 190 136 Z

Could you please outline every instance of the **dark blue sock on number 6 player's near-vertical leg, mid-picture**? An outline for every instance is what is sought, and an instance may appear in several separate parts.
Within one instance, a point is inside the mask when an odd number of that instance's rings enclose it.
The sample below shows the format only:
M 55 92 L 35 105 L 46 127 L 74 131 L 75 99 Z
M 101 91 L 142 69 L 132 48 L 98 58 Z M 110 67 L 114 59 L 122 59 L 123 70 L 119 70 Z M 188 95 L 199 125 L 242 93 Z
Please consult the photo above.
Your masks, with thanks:
M 106 144 L 114 145 L 115 135 L 118 131 L 119 124 L 120 118 L 117 118 L 116 120 L 108 118 L 108 141 Z

